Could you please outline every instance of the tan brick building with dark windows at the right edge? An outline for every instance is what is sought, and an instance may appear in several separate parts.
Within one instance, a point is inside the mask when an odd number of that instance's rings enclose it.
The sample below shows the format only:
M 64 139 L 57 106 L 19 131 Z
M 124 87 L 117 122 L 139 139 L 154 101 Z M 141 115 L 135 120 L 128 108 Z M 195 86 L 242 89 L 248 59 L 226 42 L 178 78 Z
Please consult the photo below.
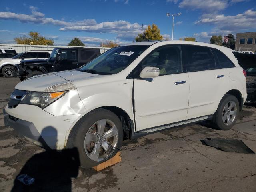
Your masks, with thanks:
M 256 52 L 256 32 L 237 33 L 235 50 Z

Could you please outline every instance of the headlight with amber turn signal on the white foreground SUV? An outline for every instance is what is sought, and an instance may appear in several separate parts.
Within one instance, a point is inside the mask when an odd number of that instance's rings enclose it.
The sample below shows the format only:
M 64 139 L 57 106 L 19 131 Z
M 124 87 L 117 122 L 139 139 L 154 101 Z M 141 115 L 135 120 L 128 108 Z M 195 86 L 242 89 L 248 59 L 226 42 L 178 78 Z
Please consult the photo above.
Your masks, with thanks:
M 68 91 L 60 92 L 29 92 L 24 99 L 21 100 L 21 104 L 36 105 L 40 108 L 45 108 L 58 98 L 66 94 Z

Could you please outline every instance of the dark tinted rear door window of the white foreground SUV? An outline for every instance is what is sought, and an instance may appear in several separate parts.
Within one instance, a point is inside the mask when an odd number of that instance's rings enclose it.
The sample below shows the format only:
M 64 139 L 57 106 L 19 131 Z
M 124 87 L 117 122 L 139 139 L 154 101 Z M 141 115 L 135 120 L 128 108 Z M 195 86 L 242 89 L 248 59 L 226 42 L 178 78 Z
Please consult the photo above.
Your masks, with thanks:
M 182 45 L 183 72 L 216 69 L 214 55 L 209 47 Z

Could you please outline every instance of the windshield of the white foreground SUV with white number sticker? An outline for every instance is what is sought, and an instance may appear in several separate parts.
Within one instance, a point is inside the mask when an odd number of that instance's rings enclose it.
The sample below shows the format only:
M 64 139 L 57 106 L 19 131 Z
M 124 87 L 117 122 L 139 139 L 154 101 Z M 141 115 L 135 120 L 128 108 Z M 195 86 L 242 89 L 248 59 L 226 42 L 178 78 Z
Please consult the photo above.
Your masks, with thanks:
M 94 74 L 116 74 L 129 66 L 148 45 L 130 45 L 112 48 L 80 68 Z

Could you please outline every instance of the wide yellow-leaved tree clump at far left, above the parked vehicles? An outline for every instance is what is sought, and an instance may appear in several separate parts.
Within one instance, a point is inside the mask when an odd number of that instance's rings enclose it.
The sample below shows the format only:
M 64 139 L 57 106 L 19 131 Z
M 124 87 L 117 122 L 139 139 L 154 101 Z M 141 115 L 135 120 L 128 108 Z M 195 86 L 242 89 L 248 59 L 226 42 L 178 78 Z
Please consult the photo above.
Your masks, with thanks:
M 30 45 L 30 42 L 33 42 L 33 45 L 54 45 L 54 41 L 52 39 L 46 39 L 43 36 L 40 36 L 38 32 L 29 32 L 30 37 L 23 36 L 14 38 L 17 44 L 25 44 Z

